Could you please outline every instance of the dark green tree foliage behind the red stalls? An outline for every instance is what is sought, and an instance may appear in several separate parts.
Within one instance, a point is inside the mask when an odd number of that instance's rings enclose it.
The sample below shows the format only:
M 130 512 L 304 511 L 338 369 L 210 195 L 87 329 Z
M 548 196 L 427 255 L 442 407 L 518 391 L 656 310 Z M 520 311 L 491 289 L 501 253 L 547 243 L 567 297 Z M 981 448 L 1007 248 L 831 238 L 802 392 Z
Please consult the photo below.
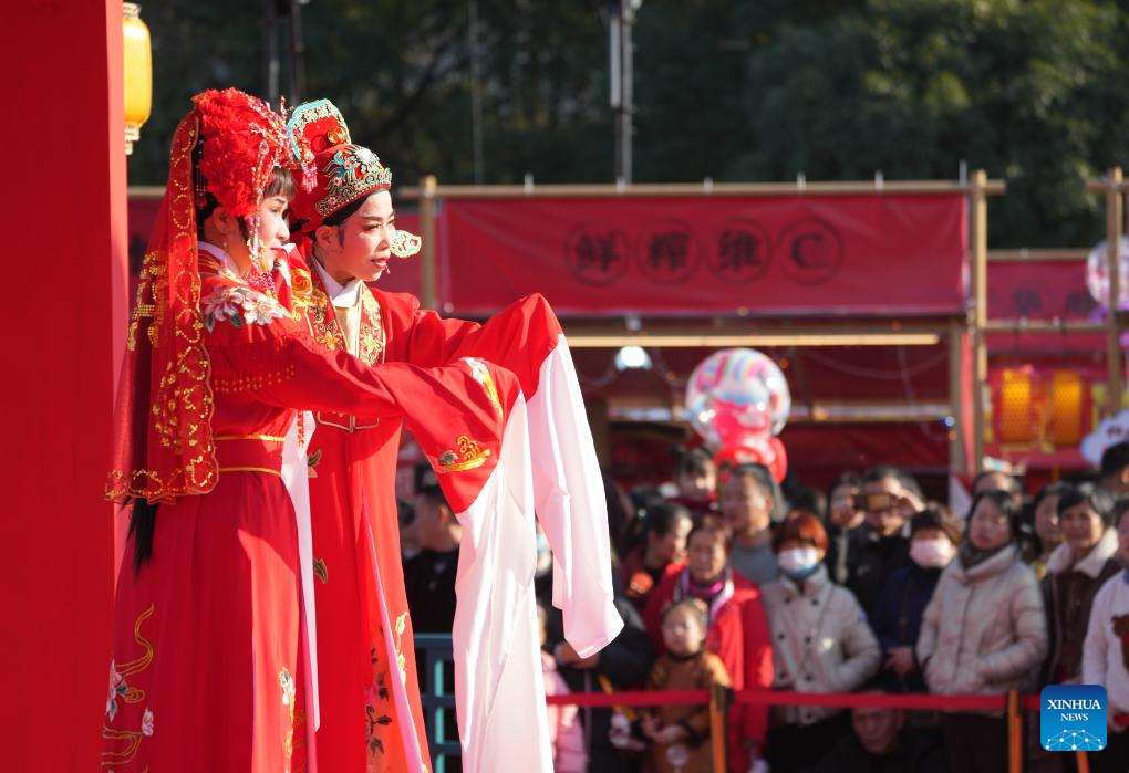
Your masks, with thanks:
M 303 96 L 334 99 L 401 182 L 473 181 L 469 7 L 312 0 Z M 604 5 L 475 7 L 485 181 L 610 181 Z M 262 10 L 146 7 L 156 108 L 132 182 L 163 181 L 193 93 L 264 91 Z M 636 179 L 953 178 L 965 160 L 1008 183 L 994 244 L 1092 244 L 1102 203 L 1084 181 L 1129 166 L 1127 21 L 1113 0 L 645 0 Z

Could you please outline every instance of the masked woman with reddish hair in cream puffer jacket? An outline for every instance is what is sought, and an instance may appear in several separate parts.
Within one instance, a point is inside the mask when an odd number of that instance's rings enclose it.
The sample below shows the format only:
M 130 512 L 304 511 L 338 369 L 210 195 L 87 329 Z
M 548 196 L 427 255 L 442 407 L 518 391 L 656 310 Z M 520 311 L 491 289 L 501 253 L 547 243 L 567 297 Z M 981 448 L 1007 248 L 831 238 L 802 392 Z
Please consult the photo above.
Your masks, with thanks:
M 781 577 L 764 586 L 776 689 L 847 693 L 878 670 L 879 649 L 858 600 L 830 580 L 820 519 L 796 511 L 772 536 Z M 850 731 L 848 714 L 823 706 L 773 706 L 768 763 L 773 773 L 804 770 Z

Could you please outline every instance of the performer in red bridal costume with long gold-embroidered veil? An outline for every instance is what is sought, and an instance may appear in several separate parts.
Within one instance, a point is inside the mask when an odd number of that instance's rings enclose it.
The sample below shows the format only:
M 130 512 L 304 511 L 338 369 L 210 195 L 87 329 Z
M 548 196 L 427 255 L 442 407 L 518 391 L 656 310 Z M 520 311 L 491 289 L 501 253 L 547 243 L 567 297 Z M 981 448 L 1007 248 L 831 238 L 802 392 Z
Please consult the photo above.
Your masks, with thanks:
M 497 394 L 517 387 L 481 362 L 377 372 L 309 339 L 261 257 L 282 232 L 263 217 L 273 205 L 263 193 L 285 178 L 285 126 L 235 89 L 193 103 L 173 138 L 120 386 L 108 493 L 134 507 L 102 770 L 303 770 L 295 728 L 308 664 L 282 437 L 298 410 L 397 422 L 415 411 L 418 436 L 441 442 L 460 424 L 426 427 L 437 401 L 500 456 L 500 425 L 475 416 L 493 415 Z

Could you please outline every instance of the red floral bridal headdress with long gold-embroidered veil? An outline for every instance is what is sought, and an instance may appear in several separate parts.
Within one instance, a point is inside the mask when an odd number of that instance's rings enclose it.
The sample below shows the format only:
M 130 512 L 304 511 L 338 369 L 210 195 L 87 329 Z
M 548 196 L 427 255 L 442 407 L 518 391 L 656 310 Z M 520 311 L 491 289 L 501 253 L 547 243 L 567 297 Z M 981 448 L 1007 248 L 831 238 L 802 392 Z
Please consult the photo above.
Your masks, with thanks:
M 263 188 L 274 167 L 291 158 L 281 117 L 262 100 L 226 89 L 204 91 L 192 102 L 173 134 L 168 184 L 129 327 L 106 490 L 115 500 L 156 502 L 216 485 L 196 210 L 210 193 L 245 218 L 256 238 Z

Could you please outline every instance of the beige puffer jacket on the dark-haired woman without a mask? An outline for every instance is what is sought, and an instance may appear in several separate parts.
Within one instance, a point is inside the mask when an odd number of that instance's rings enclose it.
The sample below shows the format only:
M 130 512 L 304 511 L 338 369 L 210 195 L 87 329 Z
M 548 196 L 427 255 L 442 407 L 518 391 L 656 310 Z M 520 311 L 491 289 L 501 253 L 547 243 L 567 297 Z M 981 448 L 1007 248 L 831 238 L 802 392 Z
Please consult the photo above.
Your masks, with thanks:
M 969 569 L 957 559 L 942 572 L 917 644 L 930 692 L 1018 689 L 1045 655 L 1042 594 L 1014 545 Z

